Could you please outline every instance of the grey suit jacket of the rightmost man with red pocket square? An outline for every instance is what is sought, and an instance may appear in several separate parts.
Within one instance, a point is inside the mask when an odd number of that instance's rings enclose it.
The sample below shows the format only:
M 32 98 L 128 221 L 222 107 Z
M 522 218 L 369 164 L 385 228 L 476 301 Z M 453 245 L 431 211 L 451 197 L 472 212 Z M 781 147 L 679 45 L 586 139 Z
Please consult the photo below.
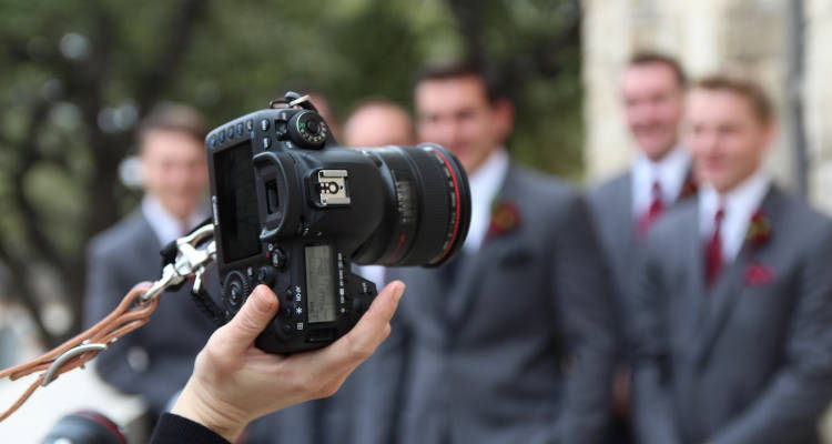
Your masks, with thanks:
M 832 221 L 777 188 L 762 210 L 771 238 L 747 241 L 710 289 L 696 200 L 651 230 L 633 373 L 640 442 L 818 442 L 832 398 Z

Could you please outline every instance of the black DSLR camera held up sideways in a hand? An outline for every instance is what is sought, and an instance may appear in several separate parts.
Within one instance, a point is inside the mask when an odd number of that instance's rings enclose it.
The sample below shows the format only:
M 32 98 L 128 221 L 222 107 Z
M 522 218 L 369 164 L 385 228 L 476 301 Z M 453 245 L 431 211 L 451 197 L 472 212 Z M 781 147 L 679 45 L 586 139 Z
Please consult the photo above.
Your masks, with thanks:
M 468 232 L 468 179 L 449 151 L 341 148 L 294 92 L 212 130 L 205 148 L 225 316 L 257 284 L 281 299 L 255 343 L 265 352 L 319 349 L 356 324 L 376 287 L 353 263 L 438 266 Z

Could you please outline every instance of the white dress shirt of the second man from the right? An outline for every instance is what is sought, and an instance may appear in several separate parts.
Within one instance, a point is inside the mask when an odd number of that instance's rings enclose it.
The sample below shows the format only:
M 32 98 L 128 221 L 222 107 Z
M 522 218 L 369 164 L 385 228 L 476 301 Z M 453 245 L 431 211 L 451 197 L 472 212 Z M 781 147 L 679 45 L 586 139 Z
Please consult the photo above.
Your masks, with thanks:
M 690 154 L 680 147 L 674 148 L 658 162 L 643 153 L 632 164 L 632 214 L 636 219 L 645 214 L 653 202 L 653 183 L 661 188 L 661 202 L 673 203 L 682 191 L 690 171 Z

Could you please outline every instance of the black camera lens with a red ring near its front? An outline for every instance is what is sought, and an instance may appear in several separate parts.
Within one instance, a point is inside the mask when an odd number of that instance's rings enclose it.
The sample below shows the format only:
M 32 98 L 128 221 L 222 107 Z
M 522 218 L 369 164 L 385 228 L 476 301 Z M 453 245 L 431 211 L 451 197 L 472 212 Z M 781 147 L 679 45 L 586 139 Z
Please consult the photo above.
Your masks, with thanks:
M 388 266 L 436 266 L 463 245 L 470 223 L 470 191 L 459 160 L 446 149 L 367 149 L 387 170 L 389 204 L 375 235 L 354 260 Z

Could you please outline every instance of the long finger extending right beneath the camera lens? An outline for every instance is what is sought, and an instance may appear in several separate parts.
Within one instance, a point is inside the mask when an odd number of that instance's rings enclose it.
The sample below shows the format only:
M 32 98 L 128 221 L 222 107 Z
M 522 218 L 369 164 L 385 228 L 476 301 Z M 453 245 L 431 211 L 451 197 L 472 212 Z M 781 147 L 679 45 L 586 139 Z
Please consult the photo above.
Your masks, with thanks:
M 387 284 L 353 330 L 322 350 L 324 370 L 332 374 L 348 373 L 369 357 L 389 334 L 389 322 L 404 291 L 405 284 L 400 281 Z

